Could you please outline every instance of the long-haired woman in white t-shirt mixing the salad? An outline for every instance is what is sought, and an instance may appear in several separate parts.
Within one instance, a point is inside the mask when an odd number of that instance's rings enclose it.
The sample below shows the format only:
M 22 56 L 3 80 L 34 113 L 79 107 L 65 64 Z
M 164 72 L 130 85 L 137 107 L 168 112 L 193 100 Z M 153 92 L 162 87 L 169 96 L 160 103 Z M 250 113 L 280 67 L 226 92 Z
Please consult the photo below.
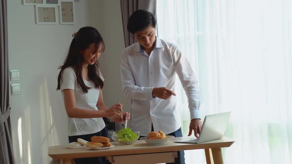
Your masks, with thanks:
M 67 58 L 60 67 L 57 90 L 61 90 L 69 117 L 69 142 L 77 138 L 91 141 L 92 136 L 108 137 L 103 117 L 121 122 L 130 116 L 120 103 L 107 108 L 102 99 L 103 77 L 98 68 L 98 57 L 104 42 L 93 27 L 83 27 L 72 35 Z M 76 164 L 104 164 L 101 158 L 75 159 Z

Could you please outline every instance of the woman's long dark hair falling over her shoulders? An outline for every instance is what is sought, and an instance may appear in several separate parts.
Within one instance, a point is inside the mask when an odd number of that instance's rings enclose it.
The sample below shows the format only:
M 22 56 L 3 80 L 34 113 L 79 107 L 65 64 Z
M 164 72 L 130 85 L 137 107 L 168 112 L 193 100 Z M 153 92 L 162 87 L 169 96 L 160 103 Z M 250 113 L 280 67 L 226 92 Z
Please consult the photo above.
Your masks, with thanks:
M 80 53 L 80 51 L 87 49 L 92 43 L 95 43 L 94 53 L 97 52 L 100 45 L 102 46 L 102 51 L 104 51 L 104 42 L 100 33 L 96 28 L 93 27 L 83 27 L 77 33 L 74 33 L 72 37 L 73 40 L 70 44 L 68 55 L 64 61 L 64 64 L 59 67 L 61 70 L 58 75 L 57 90 L 60 89 L 60 82 L 63 71 L 66 68 L 71 67 L 75 70 L 78 85 L 81 87 L 84 93 L 87 93 L 90 87 L 85 85 L 82 78 L 83 55 Z M 95 64 L 88 65 L 88 77 L 90 81 L 94 82 L 95 87 L 103 87 L 103 82 L 99 78 L 98 60 L 95 62 Z

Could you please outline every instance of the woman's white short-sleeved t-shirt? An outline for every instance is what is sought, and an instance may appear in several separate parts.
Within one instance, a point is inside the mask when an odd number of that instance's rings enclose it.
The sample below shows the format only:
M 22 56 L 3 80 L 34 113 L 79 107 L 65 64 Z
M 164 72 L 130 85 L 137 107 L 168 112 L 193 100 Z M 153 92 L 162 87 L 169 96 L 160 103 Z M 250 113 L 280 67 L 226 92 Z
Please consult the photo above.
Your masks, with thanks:
M 104 81 L 100 72 L 99 77 Z M 71 67 L 66 68 L 63 71 L 61 79 L 60 90 L 62 91 L 62 96 L 64 98 L 64 89 L 73 89 L 77 108 L 97 111 L 96 105 L 99 96 L 99 88 L 96 88 L 93 82 L 83 81 L 87 86 L 91 87 L 87 93 L 84 93 L 81 87 L 79 87 L 74 69 Z M 69 136 L 92 134 L 105 127 L 102 118 L 68 118 L 68 122 Z

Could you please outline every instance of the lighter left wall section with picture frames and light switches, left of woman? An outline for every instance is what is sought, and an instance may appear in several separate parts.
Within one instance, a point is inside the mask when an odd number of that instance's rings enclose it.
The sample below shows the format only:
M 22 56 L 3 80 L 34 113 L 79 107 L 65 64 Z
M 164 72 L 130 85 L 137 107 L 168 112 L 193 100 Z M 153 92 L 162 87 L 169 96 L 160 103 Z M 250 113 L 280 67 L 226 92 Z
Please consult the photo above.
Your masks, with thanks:
M 88 25 L 88 2 L 75 2 L 75 25 L 35 24 L 34 6 L 7 0 L 9 69 L 20 70 L 21 95 L 11 95 L 12 139 L 16 164 L 49 163 L 48 146 L 68 142 L 67 116 L 57 67 L 72 33 Z

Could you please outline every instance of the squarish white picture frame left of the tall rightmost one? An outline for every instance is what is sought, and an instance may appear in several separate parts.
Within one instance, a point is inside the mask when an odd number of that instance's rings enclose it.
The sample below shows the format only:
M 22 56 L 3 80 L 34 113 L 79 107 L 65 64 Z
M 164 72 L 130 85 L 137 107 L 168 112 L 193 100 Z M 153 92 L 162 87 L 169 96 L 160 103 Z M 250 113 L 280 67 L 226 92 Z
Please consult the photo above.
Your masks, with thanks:
M 57 6 L 52 4 L 35 5 L 36 24 L 56 24 Z

